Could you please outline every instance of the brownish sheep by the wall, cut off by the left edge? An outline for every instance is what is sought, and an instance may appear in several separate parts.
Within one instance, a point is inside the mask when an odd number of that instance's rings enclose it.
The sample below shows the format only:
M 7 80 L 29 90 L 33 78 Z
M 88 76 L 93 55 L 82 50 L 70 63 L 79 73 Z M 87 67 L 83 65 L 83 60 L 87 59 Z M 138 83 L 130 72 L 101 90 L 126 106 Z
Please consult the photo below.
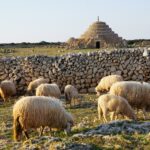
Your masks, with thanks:
M 0 84 L 0 96 L 6 102 L 9 97 L 16 94 L 16 86 L 11 80 L 4 80 Z

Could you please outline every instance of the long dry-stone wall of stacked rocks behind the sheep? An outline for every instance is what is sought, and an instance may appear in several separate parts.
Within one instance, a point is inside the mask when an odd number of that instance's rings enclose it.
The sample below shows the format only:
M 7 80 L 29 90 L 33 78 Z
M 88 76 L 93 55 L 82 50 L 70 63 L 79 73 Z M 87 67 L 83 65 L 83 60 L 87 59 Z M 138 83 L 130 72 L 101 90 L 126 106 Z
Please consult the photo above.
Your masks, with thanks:
M 29 56 L 0 59 L 0 82 L 12 79 L 20 92 L 30 81 L 44 77 L 59 85 L 67 84 L 79 92 L 92 92 L 100 79 L 110 74 L 122 75 L 124 80 L 150 81 L 150 59 L 143 57 L 144 49 L 122 49 L 68 54 L 60 57 Z

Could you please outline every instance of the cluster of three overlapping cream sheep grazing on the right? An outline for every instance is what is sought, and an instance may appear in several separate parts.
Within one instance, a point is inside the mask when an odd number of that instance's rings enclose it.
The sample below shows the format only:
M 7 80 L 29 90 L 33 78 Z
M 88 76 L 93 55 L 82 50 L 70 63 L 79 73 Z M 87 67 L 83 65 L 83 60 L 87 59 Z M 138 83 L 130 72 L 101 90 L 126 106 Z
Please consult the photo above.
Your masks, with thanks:
M 136 120 L 133 108 L 142 109 L 144 119 L 150 110 L 150 84 L 137 81 L 123 81 L 120 75 L 110 75 L 101 79 L 95 88 L 97 95 L 108 92 L 98 98 L 98 116 L 107 122 L 107 113 L 112 112 L 111 120 L 119 114 Z

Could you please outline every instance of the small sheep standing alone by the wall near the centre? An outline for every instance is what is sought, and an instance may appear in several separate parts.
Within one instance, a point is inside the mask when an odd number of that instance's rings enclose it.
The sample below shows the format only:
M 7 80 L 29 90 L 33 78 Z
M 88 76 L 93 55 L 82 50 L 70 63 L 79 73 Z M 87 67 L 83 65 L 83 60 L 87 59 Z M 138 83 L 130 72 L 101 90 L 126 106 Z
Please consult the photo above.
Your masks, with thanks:
M 72 86 L 72 85 L 66 85 L 65 90 L 64 90 L 65 98 L 66 98 L 66 104 L 70 104 L 71 102 L 74 101 L 75 105 L 75 100 L 79 100 L 79 93 L 77 89 Z

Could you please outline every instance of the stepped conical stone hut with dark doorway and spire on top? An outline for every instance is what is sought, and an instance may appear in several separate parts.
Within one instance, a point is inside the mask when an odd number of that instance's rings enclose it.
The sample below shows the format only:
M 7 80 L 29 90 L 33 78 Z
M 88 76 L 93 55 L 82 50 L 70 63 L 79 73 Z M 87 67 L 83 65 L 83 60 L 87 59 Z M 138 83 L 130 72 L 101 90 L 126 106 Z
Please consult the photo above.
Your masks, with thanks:
M 80 38 L 70 38 L 67 41 L 68 48 L 109 48 L 123 47 L 126 41 L 105 23 L 98 20 L 89 26 L 88 30 Z

